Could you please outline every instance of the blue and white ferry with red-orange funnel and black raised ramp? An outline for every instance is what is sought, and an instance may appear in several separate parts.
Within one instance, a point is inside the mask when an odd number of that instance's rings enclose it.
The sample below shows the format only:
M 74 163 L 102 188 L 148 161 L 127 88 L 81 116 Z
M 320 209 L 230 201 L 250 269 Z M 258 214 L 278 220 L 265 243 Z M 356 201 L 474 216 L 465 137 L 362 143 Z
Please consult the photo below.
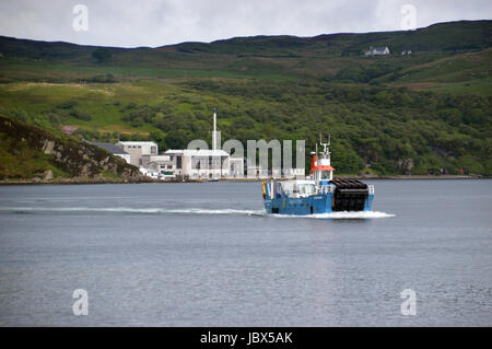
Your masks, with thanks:
M 319 214 L 337 211 L 371 211 L 374 186 L 355 179 L 333 179 L 330 160 L 330 140 L 319 144 L 323 151 L 311 155 L 308 179 L 262 183 L 265 210 L 273 214 Z

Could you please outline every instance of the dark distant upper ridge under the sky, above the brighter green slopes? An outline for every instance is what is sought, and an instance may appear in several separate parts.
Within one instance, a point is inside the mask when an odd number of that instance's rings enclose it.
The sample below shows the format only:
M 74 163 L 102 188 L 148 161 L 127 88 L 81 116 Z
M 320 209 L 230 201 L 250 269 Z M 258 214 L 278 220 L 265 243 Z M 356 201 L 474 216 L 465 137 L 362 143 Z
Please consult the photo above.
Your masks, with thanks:
M 101 47 L 0 36 L 0 53 L 3 55 L 0 81 L 79 82 L 106 73 L 125 80 L 331 78 L 343 81 L 337 73 L 364 68 L 365 77 L 356 82 L 370 82 L 406 69 L 425 68 L 430 62 L 446 57 L 484 50 L 491 46 L 491 33 L 492 21 L 461 21 L 408 32 L 237 37 L 210 44 L 183 43 L 157 48 L 106 47 L 104 49 L 110 53 L 112 58 L 104 65 L 92 57 Z M 388 46 L 395 55 L 390 58 L 364 57 L 363 53 L 370 46 Z M 413 55 L 400 56 L 403 49 L 411 49 Z M 469 61 L 467 56 L 460 57 Z M 473 80 L 473 77 L 468 80 Z

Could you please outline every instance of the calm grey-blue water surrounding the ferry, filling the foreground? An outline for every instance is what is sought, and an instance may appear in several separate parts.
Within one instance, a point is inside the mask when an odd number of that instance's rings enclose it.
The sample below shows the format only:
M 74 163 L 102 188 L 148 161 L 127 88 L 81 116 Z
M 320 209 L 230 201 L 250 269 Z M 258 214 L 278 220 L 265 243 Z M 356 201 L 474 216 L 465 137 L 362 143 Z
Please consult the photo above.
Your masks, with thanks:
M 0 325 L 492 326 L 492 182 L 372 184 L 330 220 L 259 183 L 0 187 Z

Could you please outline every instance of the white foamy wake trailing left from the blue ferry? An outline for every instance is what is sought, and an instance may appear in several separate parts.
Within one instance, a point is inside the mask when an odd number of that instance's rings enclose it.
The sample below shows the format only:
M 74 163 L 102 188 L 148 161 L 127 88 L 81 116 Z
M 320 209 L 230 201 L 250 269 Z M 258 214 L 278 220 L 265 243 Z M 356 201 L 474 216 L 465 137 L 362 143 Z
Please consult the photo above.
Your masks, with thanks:
M 271 217 L 271 218 L 296 218 L 296 219 L 375 219 L 390 218 L 395 214 L 378 211 L 358 211 L 358 212 L 331 212 L 308 216 L 296 214 L 268 214 L 265 210 L 236 210 L 236 209 L 165 209 L 165 208 L 129 208 L 129 207 L 2 207 L 0 211 L 7 211 L 16 214 L 235 214 L 235 216 L 254 216 L 254 217 Z

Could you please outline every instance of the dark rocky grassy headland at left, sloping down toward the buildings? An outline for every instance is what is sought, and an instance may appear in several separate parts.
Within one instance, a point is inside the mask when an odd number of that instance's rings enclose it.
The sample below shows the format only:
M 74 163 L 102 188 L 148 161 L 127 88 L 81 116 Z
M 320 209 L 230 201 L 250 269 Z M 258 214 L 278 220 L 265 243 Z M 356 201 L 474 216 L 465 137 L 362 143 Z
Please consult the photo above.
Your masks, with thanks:
M 104 149 L 70 137 L 56 137 L 37 127 L 0 117 L 0 179 L 48 182 L 145 181 L 137 167 Z

